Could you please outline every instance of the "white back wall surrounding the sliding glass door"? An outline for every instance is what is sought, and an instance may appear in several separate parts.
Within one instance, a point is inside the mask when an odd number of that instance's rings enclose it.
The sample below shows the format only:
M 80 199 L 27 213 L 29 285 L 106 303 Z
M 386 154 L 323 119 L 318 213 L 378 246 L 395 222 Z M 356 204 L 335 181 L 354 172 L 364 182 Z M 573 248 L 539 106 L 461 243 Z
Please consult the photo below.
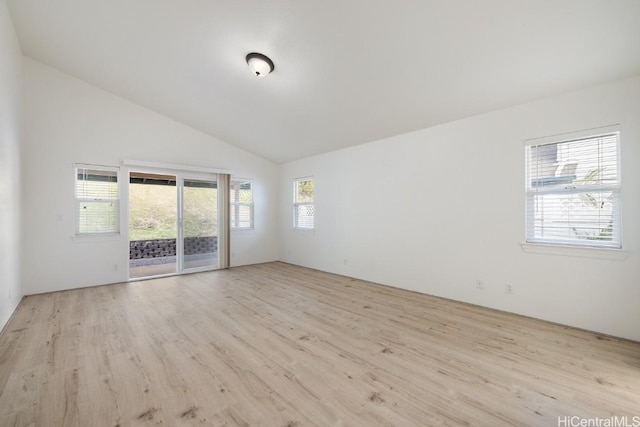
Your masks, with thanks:
M 126 235 L 72 239 L 74 162 L 117 166 L 136 159 L 252 178 L 256 228 L 232 233 L 231 263 L 277 259 L 275 164 L 30 59 L 24 61 L 24 104 L 26 294 L 127 278 Z

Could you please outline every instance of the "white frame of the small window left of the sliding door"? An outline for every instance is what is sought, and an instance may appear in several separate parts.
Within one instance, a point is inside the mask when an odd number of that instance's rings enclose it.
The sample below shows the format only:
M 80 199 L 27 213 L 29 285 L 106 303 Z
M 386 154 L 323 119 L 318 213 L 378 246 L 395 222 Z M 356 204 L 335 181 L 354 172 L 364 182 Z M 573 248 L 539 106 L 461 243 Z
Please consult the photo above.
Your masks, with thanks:
M 79 197 L 79 184 L 80 181 L 78 179 L 78 175 L 82 170 L 93 170 L 93 171 L 104 171 L 111 172 L 115 176 L 115 198 L 97 198 L 97 197 Z M 73 165 L 74 171 L 74 230 L 73 236 L 74 238 L 92 238 L 92 237 L 109 237 L 109 236 L 120 236 L 121 234 L 121 180 L 120 180 L 120 168 L 117 166 L 105 166 L 105 165 L 96 165 L 96 164 L 86 164 L 86 163 L 74 163 Z M 114 205 L 113 207 L 113 215 L 115 219 L 115 224 L 112 230 L 108 231 L 85 231 L 81 232 L 81 215 L 80 215 L 80 207 L 86 203 L 111 203 Z

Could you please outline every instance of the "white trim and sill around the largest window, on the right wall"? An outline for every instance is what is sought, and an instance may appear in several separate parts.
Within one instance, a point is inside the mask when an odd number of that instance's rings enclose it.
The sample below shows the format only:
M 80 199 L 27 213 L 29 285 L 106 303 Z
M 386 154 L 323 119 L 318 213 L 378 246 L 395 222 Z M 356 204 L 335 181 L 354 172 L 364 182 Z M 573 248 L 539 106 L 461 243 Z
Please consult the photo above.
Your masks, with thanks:
M 521 243 L 522 250 L 527 253 L 539 253 L 539 254 L 554 254 L 554 255 L 566 255 L 566 256 L 581 256 L 588 258 L 605 258 L 605 259 L 625 259 L 627 257 L 627 251 L 623 250 L 622 246 L 622 212 L 621 212 L 621 195 L 622 195 L 622 174 L 621 174 L 621 162 L 622 156 L 620 155 L 620 143 L 621 132 L 620 125 L 608 125 L 595 127 L 590 129 L 584 129 L 575 132 L 567 132 L 556 135 L 549 135 L 540 138 L 532 138 L 524 141 L 525 148 L 533 145 L 555 144 L 565 141 L 597 138 L 598 136 L 617 133 L 617 178 L 618 182 L 615 185 L 599 185 L 599 186 L 584 186 L 580 188 L 580 192 L 588 191 L 611 191 L 618 198 L 617 204 L 614 205 L 615 211 L 613 214 L 613 221 L 616 226 L 613 228 L 616 233 L 614 236 L 614 243 L 611 245 L 594 244 L 592 241 L 558 241 L 550 242 L 548 240 L 541 240 L 532 238 L 531 230 L 533 230 L 534 216 L 531 215 L 530 198 L 537 194 L 559 194 L 562 190 L 549 190 L 538 188 L 536 192 L 530 191 L 530 184 L 527 182 L 530 178 L 529 173 L 529 161 L 527 158 L 527 150 L 525 149 L 525 241 Z M 575 190 L 567 190 L 567 193 L 575 193 Z

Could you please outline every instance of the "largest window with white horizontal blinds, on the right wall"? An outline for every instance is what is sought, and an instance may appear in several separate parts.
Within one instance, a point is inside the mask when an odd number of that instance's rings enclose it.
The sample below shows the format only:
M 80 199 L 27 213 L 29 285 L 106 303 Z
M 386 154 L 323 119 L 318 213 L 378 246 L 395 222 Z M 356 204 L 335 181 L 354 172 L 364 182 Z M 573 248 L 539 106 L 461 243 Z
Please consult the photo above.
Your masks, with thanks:
M 619 136 L 527 146 L 527 242 L 621 247 Z

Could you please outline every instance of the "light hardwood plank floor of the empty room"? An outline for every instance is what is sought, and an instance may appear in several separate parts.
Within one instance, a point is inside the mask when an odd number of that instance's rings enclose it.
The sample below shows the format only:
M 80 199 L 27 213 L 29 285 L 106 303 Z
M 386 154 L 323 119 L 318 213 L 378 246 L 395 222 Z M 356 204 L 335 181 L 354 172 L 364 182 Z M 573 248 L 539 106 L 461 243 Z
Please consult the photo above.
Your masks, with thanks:
M 640 343 L 271 263 L 26 297 L 0 391 L 3 426 L 632 422 Z

